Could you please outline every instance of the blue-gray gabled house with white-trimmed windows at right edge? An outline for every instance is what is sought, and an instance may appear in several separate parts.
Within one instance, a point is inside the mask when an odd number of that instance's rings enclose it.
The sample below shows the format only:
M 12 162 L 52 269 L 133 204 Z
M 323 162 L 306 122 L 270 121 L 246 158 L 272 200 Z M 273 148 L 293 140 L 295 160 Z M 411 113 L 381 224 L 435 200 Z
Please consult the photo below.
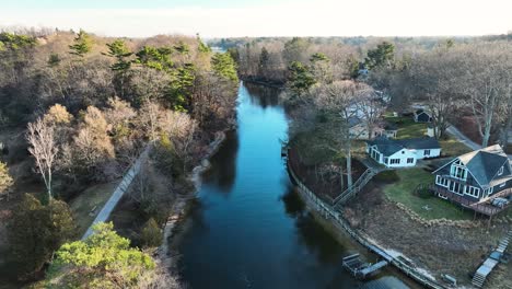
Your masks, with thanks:
M 459 155 L 433 174 L 437 187 L 472 201 L 512 188 L 511 161 L 499 144 Z

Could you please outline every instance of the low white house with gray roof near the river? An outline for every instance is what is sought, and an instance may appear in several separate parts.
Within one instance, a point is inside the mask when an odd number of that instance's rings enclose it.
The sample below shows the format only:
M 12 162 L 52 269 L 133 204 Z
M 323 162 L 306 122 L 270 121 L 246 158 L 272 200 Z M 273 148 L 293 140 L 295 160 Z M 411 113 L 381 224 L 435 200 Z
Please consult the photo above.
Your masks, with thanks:
M 387 167 L 415 166 L 418 160 L 441 155 L 441 146 L 434 138 L 388 139 L 379 137 L 366 141 L 366 152 Z

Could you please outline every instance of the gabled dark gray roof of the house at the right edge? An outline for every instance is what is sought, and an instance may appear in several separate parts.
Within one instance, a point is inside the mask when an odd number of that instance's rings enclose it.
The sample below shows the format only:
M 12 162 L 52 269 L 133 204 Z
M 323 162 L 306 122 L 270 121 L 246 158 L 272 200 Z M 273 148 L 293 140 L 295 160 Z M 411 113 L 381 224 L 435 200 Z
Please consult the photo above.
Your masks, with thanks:
M 489 186 L 497 176 L 500 167 L 503 165 L 510 165 L 507 153 L 504 153 L 503 149 L 499 144 L 465 153 L 454 160 L 457 159 L 467 167 L 467 170 L 469 170 L 473 177 L 475 177 L 481 186 Z M 454 160 L 451 160 L 443 166 L 439 167 L 434 173 L 452 163 Z M 499 178 L 503 178 L 505 181 L 510 176 L 511 174 L 509 173 L 501 175 Z M 497 182 L 502 183 L 499 180 L 494 180 L 492 183 Z

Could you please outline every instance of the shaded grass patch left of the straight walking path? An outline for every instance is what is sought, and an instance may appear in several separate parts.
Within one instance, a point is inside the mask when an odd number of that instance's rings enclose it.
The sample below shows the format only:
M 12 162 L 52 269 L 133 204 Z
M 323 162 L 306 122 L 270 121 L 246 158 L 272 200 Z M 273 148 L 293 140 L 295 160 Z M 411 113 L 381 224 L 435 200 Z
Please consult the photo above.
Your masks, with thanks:
M 96 218 L 96 215 L 100 212 L 103 205 L 105 205 L 112 193 L 114 193 L 118 183 L 119 182 L 116 181 L 113 183 L 94 185 L 85 189 L 71 201 L 70 207 L 74 213 L 80 236 L 85 233 L 92 221 L 94 221 L 94 218 Z M 96 207 L 96 209 L 94 210 L 94 213 L 90 216 L 90 212 L 94 207 Z

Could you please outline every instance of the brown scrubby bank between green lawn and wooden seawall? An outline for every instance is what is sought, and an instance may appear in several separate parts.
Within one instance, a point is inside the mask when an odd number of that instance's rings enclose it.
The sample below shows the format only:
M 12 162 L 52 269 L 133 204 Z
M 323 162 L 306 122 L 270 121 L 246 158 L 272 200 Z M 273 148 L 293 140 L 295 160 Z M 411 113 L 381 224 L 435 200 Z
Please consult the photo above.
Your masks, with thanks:
M 494 220 L 490 228 L 485 219 L 424 220 L 388 199 L 383 193 L 386 185 L 372 181 L 347 204 L 344 217 L 352 228 L 428 269 L 437 279 L 447 274 L 459 286 L 469 286 L 470 275 L 510 228 L 507 218 Z

